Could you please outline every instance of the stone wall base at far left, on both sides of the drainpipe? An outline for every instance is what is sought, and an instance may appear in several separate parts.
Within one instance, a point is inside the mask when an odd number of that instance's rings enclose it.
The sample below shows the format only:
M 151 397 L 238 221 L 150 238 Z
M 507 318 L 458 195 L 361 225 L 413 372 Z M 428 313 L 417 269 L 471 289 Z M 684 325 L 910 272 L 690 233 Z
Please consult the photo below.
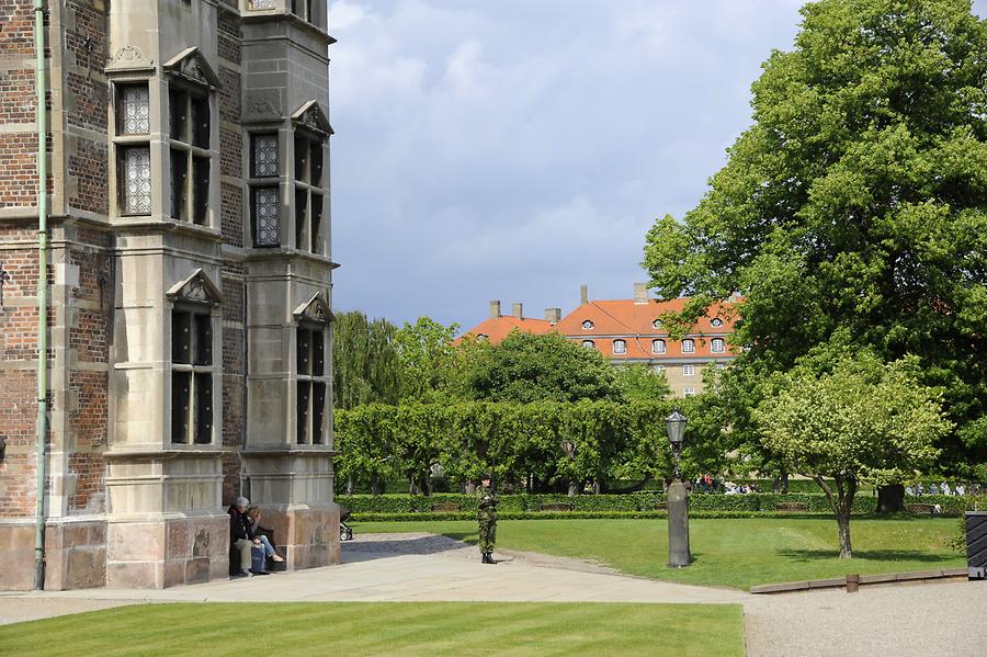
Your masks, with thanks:
M 34 588 L 35 524 L 0 524 L 0 590 Z M 45 590 L 102 587 L 106 582 L 106 521 L 52 521 L 45 529 Z

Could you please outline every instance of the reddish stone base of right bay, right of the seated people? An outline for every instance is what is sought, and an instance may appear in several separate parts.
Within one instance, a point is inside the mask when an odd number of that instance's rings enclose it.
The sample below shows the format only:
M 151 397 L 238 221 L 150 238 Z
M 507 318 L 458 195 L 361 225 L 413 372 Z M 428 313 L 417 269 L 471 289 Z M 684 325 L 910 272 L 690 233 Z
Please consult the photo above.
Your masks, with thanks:
M 274 540 L 292 570 L 319 568 L 341 562 L 339 506 L 326 508 L 264 507 L 264 526 L 274 530 Z

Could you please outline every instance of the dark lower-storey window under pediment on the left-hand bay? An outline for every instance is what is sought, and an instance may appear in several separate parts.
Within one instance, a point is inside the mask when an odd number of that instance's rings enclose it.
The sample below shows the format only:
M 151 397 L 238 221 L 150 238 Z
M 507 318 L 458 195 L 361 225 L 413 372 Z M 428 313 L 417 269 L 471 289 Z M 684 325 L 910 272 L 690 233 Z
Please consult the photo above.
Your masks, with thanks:
M 213 318 L 208 309 L 171 313 L 171 442 L 213 442 Z

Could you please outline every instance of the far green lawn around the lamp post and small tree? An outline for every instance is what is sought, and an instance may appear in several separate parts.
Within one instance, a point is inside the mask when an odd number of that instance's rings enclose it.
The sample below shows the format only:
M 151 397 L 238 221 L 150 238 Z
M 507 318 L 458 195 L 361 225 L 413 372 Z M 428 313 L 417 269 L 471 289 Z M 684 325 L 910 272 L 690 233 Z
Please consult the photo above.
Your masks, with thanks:
M 358 533 L 423 531 L 476 541 L 476 523 L 355 523 Z M 508 520 L 498 523 L 500 547 L 595 559 L 624 573 L 706 586 L 748 589 L 758 584 L 931 568 L 965 559 L 949 547 L 955 519 L 854 519 L 854 557 L 838 557 L 832 519 L 757 518 L 690 521 L 689 568 L 670 570 L 665 520 Z

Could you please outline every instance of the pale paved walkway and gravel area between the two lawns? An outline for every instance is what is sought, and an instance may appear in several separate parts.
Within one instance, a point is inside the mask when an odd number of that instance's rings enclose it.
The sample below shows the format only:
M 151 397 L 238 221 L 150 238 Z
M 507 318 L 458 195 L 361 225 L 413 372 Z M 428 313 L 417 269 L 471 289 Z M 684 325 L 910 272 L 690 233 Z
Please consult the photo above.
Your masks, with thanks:
M 138 602 L 600 601 L 740 603 L 748 654 L 987 656 L 987 582 L 750 596 L 621 575 L 576 559 L 498 552 L 432 534 L 365 534 L 340 566 L 164 590 L 87 589 L 0 594 L 0 624 Z

